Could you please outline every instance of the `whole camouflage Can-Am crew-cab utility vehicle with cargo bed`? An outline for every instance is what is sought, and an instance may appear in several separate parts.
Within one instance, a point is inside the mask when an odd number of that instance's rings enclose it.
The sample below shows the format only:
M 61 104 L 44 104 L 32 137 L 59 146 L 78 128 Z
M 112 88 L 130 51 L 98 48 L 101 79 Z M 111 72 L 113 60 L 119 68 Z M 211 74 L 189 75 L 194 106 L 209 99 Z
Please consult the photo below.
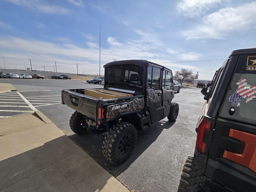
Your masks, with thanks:
M 171 69 L 147 60 L 113 61 L 104 68 L 104 89 L 92 91 L 126 96 L 100 99 L 85 95 L 88 90 L 64 89 L 62 104 L 76 110 L 70 118 L 71 130 L 102 136 L 103 155 L 110 163 L 121 164 L 135 146 L 136 129 L 146 130 L 165 117 L 175 121 L 179 105 L 172 103 Z

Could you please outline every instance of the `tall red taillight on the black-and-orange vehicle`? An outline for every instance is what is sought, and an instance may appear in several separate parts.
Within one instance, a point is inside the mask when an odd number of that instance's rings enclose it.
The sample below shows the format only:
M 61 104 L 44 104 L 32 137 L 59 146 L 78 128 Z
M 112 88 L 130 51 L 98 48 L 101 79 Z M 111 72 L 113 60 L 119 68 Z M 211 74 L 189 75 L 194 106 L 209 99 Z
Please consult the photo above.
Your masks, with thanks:
M 210 121 L 202 119 L 197 129 L 196 150 L 198 150 L 200 153 L 203 153 L 203 154 L 206 148 L 206 144 L 204 143 L 204 134 L 206 130 L 210 129 L 210 126 L 211 126 Z

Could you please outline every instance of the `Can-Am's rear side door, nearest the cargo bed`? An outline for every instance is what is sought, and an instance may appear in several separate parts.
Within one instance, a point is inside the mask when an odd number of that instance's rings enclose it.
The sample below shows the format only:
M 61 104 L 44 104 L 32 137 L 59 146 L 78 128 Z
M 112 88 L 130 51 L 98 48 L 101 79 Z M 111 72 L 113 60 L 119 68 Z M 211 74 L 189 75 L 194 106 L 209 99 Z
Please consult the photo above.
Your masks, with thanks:
M 162 67 L 149 64 L 147 67 L 146 106 L 148 106 L 152 124 L 162 119 L 161 75 Z

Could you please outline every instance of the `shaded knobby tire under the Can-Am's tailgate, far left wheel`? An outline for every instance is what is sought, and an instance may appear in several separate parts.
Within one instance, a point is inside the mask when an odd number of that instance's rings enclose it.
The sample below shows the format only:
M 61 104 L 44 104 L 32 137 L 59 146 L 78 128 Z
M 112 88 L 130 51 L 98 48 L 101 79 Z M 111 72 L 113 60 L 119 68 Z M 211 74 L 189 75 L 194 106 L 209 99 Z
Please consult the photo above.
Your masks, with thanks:
M 77 111 L 75 111 L 69 120 L 70 129 L 78 134 L 84 135 L 87 134 L 87 127 L 84 125 L 84 118 L 85 116 Z

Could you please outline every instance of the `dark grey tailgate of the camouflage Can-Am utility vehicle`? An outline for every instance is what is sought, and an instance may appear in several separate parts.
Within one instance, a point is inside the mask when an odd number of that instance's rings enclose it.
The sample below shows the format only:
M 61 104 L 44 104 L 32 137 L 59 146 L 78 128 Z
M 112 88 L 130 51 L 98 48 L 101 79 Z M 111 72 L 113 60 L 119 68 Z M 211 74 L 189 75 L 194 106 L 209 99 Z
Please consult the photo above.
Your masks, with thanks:
M 83 91 L 84 89 L 63 89 L 61 91 L 62 104 L 96 120 L 97 104 L 100 100 L 81 94 L 84 93 Z

